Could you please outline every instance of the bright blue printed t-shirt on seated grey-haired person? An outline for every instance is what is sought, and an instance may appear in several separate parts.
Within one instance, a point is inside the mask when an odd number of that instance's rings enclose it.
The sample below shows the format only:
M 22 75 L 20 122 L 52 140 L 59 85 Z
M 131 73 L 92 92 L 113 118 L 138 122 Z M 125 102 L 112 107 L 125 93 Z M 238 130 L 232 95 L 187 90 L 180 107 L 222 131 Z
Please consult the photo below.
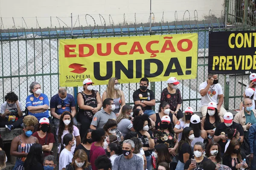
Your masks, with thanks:
M 27 96 L 26 98 L 26 108 L 29 106 L 42 106 L 42 105 L 48 105 L 49 106 L 49 100 L 46 94 L 41 93 L 38 98 L 34 96 L 34 94 L 31 94 Z M 29 111 L 29 115 L 35 116 L 38 121 L 43 117 L 49 117 L 49 111 L 46 110 L 44 112 L 39 113 L 31 113 Z

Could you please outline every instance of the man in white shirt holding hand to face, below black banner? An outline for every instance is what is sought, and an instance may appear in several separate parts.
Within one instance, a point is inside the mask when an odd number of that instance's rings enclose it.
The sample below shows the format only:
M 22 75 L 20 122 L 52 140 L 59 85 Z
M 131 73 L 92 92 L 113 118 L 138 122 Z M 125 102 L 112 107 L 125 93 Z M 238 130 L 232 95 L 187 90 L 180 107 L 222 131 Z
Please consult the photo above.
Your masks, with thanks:
M 199 85 L 199 92 L 202 96 L 200 112 L 203 116 L 206 116 L 207 113 L 207 105 L 209 102 L 215 102 L 217 104 L 218 114 L 223 117 L 224 113 L 227 111 L 221 107 L 224 96 L 222 92 L 221 85 L 218 83 L 218 75 L 215 72 L 209 72 L 207 81 L 202 82 Z

